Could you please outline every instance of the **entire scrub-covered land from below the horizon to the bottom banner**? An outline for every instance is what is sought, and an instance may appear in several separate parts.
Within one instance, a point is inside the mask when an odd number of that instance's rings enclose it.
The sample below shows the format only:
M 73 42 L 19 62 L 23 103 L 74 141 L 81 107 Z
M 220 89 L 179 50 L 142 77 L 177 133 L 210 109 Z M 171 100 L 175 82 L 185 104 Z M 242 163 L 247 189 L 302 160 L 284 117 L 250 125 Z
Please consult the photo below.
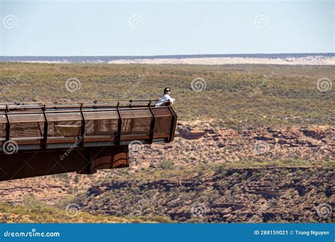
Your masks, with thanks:
M 66 90 L 70 78 L 78 90 Z M 333 88 L 318 91 L 322 78 Z M 194 91 L 194 79 L 206 88 Z M 170 86 L 179 120 L 211 120 L 199 129 L 205 144 L 177 138 L 164 150 L 145 147 L 128 169 L 36 178 L 68 197 L 47 204 L 20 195 L 18 203 L 0 203 L 0 221 L 331 221 L 315 211 L 334 196 L 334 80 L 334 67 L 326 66 L 0 63 L 3 102 L 155 99 Z M 278 125 L 283 129 L 270 128 Z M 269 152 L 255 154 L 259 141 Z M 78 216 L 66 211 L 72 203 Z

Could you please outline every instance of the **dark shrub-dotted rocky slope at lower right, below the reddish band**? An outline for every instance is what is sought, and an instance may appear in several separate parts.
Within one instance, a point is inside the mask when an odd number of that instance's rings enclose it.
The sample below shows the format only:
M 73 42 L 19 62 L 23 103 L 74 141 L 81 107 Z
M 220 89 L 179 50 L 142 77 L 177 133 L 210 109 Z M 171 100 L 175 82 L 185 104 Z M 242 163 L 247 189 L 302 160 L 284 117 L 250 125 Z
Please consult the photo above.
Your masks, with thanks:
M 334 207 L 334 178 L 334 169 L 324 168 L 228 169 L 170 180 L 111 181 L 76 202 L 93 213 L 177 222 L 329 222 L 332 214 L 322 217 L 318 210 L 320 204 Z

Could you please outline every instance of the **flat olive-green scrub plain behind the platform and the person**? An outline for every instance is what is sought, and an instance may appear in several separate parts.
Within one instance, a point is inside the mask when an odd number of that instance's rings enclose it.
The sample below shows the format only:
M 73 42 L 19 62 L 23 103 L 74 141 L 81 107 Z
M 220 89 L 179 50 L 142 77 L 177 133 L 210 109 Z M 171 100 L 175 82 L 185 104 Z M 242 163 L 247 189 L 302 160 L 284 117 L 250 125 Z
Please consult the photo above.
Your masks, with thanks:
M 180 120 L 334 125 L 335 88 L 317 90 L 318 79 L 334 83 L 334 67 L 0 63 L 0 71 L 2 101 L 155 99 L 170 86 Z M 69 78 L 80 81 L 78 91 L 66 90 Z M 192 90 L 196 78 L 204 91 Z

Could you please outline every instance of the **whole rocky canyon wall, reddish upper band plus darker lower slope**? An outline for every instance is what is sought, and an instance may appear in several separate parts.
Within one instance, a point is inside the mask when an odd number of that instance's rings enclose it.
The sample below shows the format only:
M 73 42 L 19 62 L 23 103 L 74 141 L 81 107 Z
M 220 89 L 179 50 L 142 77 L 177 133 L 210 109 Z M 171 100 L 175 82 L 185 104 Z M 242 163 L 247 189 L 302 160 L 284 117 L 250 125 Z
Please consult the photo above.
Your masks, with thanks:
M 0 202 L 34 195 L 54 204 L 82 194 L 77 202 L 84 210 L 119 217 L 333 221 L 316 211 L 323 203 L 334 207 L 334 148 L 332 126 L 233 129 L 222 120 L 178 122 L 174 142 L 130 150 L 130 168 L 1 182 Z M 223 167 L 206 168 L 212 165 Z M 202 170 L 151 177 L 162 169 L 168 173 L 170 166 L 174 173 Z M 144 178 L 132 179 L 141 173 Z

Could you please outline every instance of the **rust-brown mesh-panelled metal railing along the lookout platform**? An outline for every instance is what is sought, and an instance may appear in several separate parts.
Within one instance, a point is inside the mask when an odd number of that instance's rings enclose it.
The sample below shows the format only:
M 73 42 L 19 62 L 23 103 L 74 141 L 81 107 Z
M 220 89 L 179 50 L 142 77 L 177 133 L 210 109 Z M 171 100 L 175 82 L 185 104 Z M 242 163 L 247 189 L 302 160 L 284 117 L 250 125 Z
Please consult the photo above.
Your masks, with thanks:
M 154 139 L 171 142 L 177 115 L 170 103 L 155 107 L 158 100 L 94 100 L 82 102 L 0 103 L 0 145 L 112 142 Z M 5 130 L 1 129 L 1 124 Z

